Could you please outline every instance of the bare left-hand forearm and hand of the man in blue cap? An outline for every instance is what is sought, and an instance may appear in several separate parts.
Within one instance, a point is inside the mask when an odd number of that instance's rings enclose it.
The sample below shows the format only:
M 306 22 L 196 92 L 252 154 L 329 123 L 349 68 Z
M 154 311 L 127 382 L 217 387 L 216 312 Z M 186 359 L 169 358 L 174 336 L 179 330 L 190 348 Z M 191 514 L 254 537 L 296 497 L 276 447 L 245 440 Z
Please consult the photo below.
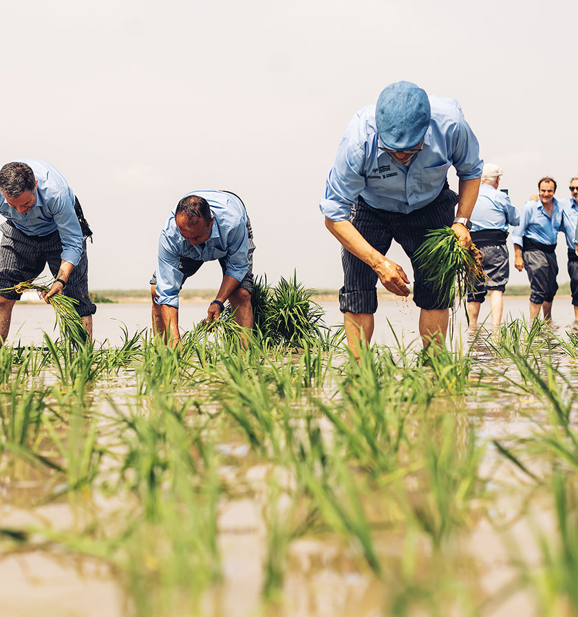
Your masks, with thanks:
M 409 283 L 409 279 L 403 268 L 373 248 L 350 221 L 332 221 L 325 218 L 325 227 L 341 242 L 346 250 L 367 263 L 376 272 L 385 289 L 397 296 L 409 294 L 409 289 L 405 285 L 405 283 Z

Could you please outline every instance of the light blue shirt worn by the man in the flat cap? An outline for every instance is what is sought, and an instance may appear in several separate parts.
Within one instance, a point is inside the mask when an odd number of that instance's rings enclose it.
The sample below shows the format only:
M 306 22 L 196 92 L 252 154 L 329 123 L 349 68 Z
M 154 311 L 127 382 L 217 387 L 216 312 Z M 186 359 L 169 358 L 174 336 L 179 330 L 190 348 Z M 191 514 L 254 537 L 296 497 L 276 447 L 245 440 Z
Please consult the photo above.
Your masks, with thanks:
M 423 208 L 439 195 L 451 165 L 461 180 L 481 177 L 478 140 L 458 102 L 438 96 L 430 96 L 429 102 L 431 121 L 423 149 L 409 166 L 378 149 L 375 105 L 355 114 L 343 133 L 319 202 L 325 217 L 346 221 L 359 195 L 379 210 L 408 214 Z

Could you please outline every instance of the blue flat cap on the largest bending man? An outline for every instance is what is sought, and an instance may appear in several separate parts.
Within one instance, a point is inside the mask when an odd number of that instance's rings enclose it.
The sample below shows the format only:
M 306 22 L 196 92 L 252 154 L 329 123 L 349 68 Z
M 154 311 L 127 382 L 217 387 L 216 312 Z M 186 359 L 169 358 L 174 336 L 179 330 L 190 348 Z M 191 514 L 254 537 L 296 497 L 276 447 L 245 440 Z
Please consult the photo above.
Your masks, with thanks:
M 425 136 L 430 119 L 429 98 L 411 81 L 389 84 L 377 99 L 377 132 L 383 145 L 391 150 L 415 148 Z

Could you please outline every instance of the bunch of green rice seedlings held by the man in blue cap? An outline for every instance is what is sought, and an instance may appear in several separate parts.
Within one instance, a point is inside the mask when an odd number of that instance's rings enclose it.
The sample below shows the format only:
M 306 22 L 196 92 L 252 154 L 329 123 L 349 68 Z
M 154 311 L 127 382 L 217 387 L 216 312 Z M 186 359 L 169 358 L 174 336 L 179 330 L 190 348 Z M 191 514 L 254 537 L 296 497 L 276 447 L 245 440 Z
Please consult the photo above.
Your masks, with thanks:
M 449 227 L 429 230 L 414 257 L 418 267 L 429 272 L 426 281 L 434 283 L 440 303 L 453 303 L 456 296 L 462 301 L 473 288 L 473 279 L 486 278 L 480 249 L 473 243 L 462 246 Z

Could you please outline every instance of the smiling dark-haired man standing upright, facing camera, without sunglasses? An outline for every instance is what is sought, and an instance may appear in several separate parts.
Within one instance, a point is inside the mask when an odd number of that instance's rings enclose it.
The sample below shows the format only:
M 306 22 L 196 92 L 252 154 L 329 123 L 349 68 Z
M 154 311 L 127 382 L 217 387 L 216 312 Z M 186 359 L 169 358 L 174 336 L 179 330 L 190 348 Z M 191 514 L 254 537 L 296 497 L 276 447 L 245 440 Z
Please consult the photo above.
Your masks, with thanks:
M 561 225 L 561 208 L 554 197 L 556 182 L 549 176 L 538 182 L 539 201 L 528 200 L 520 214 L 520 225 L 512 240 L 515 250 L 514 265 L 522 272 L 526 268 L 530 279 L 530 318 L 552 318 L 552 303 L 558 290 L 556 277 L 556 243 Z

